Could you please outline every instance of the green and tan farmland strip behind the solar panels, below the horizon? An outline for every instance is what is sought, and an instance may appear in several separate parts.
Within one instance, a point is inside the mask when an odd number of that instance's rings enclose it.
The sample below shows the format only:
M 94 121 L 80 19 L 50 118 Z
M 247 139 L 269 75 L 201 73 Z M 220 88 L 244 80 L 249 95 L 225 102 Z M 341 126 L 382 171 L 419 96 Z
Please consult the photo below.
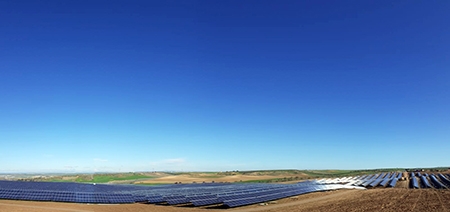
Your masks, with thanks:
M 173 183 L 201 183 L 205 182 L 251 182 L 278 183 L 295 182 L 317 178 L 334 178 L 394 172 L 401 169 L 380 170 L 260 170 L 235 172 L 144 172 L 144 173 L 108 173 L 108 174 L 79 174 L 56 176 L 39 179 L 52 182 L 84 182 L 84 183 L 121 183 L 121 184 L 173 184 Z

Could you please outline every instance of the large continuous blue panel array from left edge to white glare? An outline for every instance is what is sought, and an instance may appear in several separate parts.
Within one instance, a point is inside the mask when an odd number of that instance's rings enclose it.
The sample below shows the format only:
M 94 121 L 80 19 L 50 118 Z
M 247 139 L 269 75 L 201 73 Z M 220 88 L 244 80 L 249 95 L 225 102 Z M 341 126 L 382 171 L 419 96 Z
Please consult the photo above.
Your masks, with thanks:
M 317 191 L 353 188 L 315 181 L 297 184 L 201 183 L 163 186 L 107 185 L 59 182 L 0 181 L 0 199 L 96 204 L 222 204 L 238 207 Z

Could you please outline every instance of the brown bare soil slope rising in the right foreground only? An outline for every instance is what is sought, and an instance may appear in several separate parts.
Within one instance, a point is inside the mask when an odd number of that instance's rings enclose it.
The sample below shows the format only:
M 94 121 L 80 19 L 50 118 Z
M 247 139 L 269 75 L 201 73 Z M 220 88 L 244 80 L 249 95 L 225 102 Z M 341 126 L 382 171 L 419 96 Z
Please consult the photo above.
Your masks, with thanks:
M 280 205 L 258 211 L 450 211 L 448 190 L 371 189 L 338 192 L 339 195 L 317 197 L 308 201 L 299 200 L 298 204 Z

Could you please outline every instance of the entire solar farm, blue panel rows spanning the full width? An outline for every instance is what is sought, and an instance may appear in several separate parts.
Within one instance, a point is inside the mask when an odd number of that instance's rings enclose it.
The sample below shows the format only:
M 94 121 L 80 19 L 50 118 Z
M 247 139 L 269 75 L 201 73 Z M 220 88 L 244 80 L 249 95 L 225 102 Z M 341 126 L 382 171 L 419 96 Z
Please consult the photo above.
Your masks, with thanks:
M 143 203 L 173 208 L 240 208 L 335 190 L 398 190 L 398 183 L 414 190 L 448 190 L 450 175 L 443 173 L 380 173 L 328 178 L 293 184 L 192 183 L 158 186 L 68 182 L 0 181 L 0 199 L 78 204 Z M 394 189 L 397 187 L 397 189 Z M 447 200 L 448 201 L 448 200 Z M 1 207 L 1 206 L 0 206 Z

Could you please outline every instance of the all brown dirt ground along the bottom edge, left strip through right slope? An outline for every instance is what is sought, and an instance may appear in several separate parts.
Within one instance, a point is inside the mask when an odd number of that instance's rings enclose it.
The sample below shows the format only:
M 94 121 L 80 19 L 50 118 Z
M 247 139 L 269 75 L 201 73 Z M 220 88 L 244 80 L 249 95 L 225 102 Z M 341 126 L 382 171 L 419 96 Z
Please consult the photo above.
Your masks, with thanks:
M 314 212 L 314 211 L 449 211 L 450 190 L 370 189 L 311 193 L 276 201 L 265 206 L 207 209 L 151 204 L 87 205 L 74 203 L 0 200 L 0 211 L 8 212 Z

